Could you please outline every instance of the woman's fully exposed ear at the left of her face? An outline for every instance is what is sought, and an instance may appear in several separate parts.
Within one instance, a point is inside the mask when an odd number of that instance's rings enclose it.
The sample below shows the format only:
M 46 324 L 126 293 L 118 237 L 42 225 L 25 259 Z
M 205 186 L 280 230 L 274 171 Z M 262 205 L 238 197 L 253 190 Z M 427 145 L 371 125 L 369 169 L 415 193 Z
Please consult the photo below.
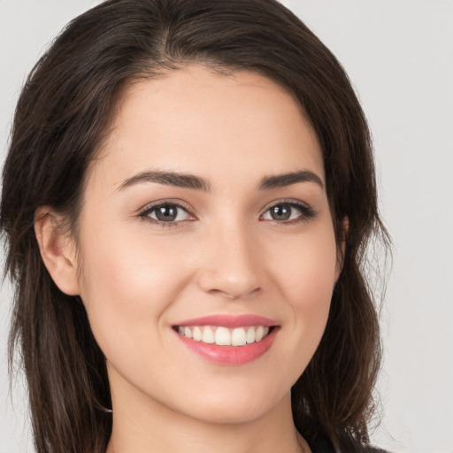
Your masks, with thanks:
M 62 231 L 61 215 L 50 206 L 35 212 L 35 234 L 42 261 L 58 288 L 69 296 L 80 294 L 73 240 Z

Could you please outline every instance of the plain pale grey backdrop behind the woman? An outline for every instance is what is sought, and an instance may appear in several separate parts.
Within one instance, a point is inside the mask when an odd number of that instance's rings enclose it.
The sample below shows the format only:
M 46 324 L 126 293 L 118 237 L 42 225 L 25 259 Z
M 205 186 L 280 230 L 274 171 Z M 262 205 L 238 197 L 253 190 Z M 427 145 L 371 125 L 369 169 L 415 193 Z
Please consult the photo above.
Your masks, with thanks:
M 96 3 L 0 0 L 0 161 L 27 73 L 65 23 Z M 382 420 L 372 441 L 394 452 L 452 453 L 453 2 L 284 3 L 340 59 L 372 127 L 395 244 L 382 310 Z M 31 453 L 23 381 L 8 393 L 7 282 L 0 296 L 0 453 Z

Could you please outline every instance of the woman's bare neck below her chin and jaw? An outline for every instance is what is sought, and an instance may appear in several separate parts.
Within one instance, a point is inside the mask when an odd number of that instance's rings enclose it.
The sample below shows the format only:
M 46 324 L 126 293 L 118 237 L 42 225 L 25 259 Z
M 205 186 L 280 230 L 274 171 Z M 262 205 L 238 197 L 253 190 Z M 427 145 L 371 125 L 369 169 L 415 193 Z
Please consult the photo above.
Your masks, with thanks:
M 107 453 L 310 453 L 294 426 L 289 394 L 271 411 L 240 423 L 211 423 L 130 396 L 112 394 Z

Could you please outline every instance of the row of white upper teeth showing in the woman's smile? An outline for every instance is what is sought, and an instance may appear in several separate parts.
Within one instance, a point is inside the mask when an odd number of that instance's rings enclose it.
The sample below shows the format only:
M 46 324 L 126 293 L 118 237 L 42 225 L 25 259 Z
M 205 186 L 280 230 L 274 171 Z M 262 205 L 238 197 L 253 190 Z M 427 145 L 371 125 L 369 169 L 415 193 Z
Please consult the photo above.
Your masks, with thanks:
M 178 332 L 196 342 L 216 343 L 219 346 L 243 346 L 260 342 L 269 334 L 269 327 L 249 326 L 229 329 L 224 326 L 180 326 Z

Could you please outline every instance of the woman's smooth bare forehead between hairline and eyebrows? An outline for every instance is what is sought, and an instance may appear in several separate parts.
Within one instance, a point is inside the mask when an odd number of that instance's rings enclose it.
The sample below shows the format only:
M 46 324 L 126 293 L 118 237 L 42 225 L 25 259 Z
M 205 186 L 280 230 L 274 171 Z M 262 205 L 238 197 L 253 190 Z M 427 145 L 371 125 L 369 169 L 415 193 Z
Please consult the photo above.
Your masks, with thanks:
M 307 168 L 324 181 L 318 139 L 293 96 L 258 73 L 201 65 L 127 87 L 92 166 L 117 186 L 149 167 L 247 180 Z

